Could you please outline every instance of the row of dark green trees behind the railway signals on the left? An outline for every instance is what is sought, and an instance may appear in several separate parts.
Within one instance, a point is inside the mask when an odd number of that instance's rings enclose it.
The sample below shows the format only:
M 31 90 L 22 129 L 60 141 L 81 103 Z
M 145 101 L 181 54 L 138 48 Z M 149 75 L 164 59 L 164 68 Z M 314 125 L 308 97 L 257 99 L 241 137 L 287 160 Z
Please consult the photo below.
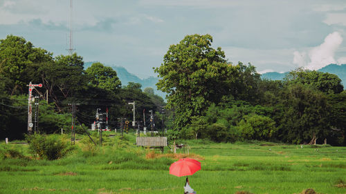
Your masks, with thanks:
M 157 112 L 165 105 L 162 97 L 151 88 L 143 91 L 141 85 L 123 86 L 113 68 L 94 63 L 84 69 L 83 57 L 58 55 L 43 48 L 35 48 L 24 37 L 8 35 L 0 40 L 0 136 L 1 139 L 21 139 L 27 133 L 28 84 L 42 84 L 33 94 L 39 101 L 39 132 L 60 133 L 71 129 L 71 104 L 78 105 L 77 130 L 90 128 L 95 121 L 96 109 L 109 110 L 109 128 L 118 128 L 118 118 L 132 118 L 136 101 L 136 119 L 143 121 L 143 110 Z M 157 112 L 156 115 L 160 113 Z M 159 121 L 160 117 L 157 117 Z M 105 116 L 104 116 L 104 119 Z M 143 122 L 138 122 L 143 126 Z M 161 126 L 158 122 L 157 127 Z

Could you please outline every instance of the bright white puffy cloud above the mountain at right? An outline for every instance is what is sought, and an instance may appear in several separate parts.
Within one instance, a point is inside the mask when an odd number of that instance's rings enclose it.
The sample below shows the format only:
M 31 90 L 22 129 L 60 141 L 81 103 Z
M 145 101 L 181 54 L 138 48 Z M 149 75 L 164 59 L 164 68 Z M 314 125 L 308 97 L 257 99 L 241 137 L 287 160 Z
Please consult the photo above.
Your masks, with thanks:
M 309 56 L 306 52 L 293 52 L 293 64 L 298 64 L 309 70 L 318 70 L 329 64 L 336 64 L 334 55 L 336 50 L 338 50 L 340 44 L 343 42 L 343 37 L 341 37 L 339 32 L 333 32 L 327 37 L 325 41 L 309 50 Z M 344 57 L 340 60 L 343 61 Z

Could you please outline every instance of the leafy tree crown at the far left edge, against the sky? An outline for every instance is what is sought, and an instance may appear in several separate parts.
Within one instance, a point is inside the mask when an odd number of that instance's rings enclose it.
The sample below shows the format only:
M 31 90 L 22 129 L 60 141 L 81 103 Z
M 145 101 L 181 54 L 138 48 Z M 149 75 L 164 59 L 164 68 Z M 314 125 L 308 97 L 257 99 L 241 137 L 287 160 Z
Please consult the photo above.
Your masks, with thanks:
M 23 37 L 8 35 L 0 40 L 0 72 L 7 82 L 6 89 L 13 95 L 16 90 L 24 91 L 28 84 L 25 70 L 29 64 L 52 61 L 51 52 L 34 48 L 33 43 Z

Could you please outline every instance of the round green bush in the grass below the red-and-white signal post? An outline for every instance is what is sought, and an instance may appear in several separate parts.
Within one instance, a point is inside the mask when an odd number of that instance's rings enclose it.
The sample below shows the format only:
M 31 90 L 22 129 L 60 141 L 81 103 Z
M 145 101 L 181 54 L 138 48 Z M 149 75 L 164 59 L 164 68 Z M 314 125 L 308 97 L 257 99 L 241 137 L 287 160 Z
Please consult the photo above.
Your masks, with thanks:
M 59 159 L 72 150 L 69 142 L 61 135 L 28 135 L 29 151 L 35 158 Z

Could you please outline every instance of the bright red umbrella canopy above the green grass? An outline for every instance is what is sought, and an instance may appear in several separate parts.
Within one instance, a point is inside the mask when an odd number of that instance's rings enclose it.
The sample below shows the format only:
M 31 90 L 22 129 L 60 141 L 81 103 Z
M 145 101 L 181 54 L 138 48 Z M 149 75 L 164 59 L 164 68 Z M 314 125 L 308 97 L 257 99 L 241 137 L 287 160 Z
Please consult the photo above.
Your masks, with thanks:
M 170 166 L 170 174 L 177 177 L 193 175 L 201 170 L 201 162 L 191 158 L 182 158 Z

